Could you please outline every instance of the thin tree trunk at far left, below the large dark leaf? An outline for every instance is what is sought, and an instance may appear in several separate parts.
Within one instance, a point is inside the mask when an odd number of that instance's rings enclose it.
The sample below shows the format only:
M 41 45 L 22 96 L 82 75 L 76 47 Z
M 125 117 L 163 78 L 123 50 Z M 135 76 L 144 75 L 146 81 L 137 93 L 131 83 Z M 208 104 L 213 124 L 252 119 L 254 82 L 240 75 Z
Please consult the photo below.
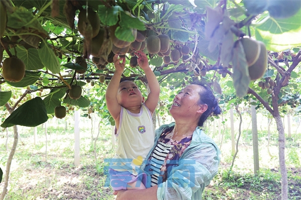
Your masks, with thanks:
M 13 143 L 11 153 L 9 155 L 8 162 L 7 162 L 7 167 L 6 167 L 6 171 L 5 171 L 4 186 L 3 186 L 2 193 L 0 195 L 0 200 L 3 200 L 6 196 L 6 193 L 8 192 L 11 164 L 12 164 L 14 154 L 16 152 L 17 144 L 18 144 L 18 128 L 17 128 L 17 125 L 14 125 L 14 143 Z

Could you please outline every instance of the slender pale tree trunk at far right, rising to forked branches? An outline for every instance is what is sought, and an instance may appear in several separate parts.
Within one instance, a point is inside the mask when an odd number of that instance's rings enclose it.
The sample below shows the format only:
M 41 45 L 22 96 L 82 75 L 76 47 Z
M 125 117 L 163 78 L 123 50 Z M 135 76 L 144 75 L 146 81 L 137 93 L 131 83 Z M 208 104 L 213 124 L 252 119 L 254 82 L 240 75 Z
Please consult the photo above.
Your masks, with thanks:
M 281 172 L 281 199 L 287 199 L 287 171 L 285 166 L 285 135 L 284 135 L 284 127 L 282 124 L 281 116 L 278 113 L 274 112 L 274 118 L 277 124 L 278 130 L 278 143 L 279 143 L 279 165 Z

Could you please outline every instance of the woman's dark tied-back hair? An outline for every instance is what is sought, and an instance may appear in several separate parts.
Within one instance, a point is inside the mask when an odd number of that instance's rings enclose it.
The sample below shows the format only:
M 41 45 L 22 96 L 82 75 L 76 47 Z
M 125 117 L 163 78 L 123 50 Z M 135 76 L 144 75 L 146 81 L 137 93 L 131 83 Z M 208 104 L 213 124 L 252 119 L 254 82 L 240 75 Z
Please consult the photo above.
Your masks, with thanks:
M 213 94 L 211 87 L 205 83 L 200 81 L 194 81 L 191 84 L 197 84 L 203 87 L 203 89 L 199 92 L 200 95 L 200 104 L 207 104 L 207 110 L 201 115 L 199 119 L 199 126 L 203 126 L 204 122 L 210 115 L 218 115 L 222 112 L 220 106 L 218 105 L 217 99 Z

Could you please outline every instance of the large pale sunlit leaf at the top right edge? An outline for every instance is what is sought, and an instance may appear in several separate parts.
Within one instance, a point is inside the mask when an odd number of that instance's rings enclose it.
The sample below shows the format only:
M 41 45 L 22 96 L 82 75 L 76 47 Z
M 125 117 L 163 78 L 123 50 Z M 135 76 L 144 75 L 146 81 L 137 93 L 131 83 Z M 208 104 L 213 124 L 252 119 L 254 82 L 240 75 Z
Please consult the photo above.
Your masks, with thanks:
M 268 50 L 282 51 L 301 45 L 301 9 L 285 19 L 268 18 L 256 26 L 255 37 L 265 43 Z

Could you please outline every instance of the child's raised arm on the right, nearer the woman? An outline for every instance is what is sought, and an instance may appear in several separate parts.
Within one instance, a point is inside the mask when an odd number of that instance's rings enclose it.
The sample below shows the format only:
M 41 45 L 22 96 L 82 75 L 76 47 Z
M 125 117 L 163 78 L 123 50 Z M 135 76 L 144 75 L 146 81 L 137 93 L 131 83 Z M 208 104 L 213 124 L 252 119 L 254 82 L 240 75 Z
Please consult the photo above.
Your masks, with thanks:
M 143 51 L 137 51 L 135 52 L 135 55 L 138 57 L 138 65 L 144 70 L 150 90 L 144 103 L 148 107 L 148 109 L 153 113 L 159 101 L 160 85 L 152 68 L 149 67 L 148 58 L 146 57 L 146 54 Z

